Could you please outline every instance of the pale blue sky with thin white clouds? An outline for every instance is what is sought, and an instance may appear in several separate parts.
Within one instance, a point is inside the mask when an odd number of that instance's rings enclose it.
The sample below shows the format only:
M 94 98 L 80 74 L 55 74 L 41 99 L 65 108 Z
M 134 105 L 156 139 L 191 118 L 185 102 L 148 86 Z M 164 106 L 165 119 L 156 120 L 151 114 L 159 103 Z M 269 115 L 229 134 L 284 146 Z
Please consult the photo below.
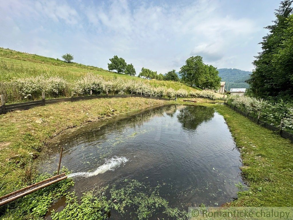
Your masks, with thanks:
M 117 55 L 166 73 L 200 55 L 217 68 L 253 70 L 277 0 L 0 0 L 0 47 L 108 69 Z

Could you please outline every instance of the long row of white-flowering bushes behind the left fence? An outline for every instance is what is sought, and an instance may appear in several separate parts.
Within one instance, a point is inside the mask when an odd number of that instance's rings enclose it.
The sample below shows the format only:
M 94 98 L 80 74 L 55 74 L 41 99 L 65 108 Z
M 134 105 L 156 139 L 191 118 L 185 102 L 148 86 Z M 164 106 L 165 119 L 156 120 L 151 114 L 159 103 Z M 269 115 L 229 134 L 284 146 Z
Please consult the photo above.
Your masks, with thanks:
M 18 91 L 20 99 L 28 97 L 40 97 L 42 91 L 50 96 L 70 96 L 71 91 L 75 95 L 88 95 L 90 91 L 93 94 L 143 94 L 154 97 L 203 97 L 214 99 L 215 94 L 212 91 L 193 91 L 188 92 L 185 89 L 174 90 L 173 88 L 154 87 L 148 82 L 140 80 L 123 80 L 122 78 L 113 77 L 105 81 L 102 77 L 88 73 L 87 75 L 77 79 L 73 83 L 67 82 L 61 77 L 45 78 L 44 76 L 13 79 L 11 82 L 6 82 L 6 91 L 1 91 L 3 94 L 8 93 L 8 87 L 11 91 Z M 8 85 L 9 84 L 9 85 Z M 11 89 L 13 88 L 13 89 Z

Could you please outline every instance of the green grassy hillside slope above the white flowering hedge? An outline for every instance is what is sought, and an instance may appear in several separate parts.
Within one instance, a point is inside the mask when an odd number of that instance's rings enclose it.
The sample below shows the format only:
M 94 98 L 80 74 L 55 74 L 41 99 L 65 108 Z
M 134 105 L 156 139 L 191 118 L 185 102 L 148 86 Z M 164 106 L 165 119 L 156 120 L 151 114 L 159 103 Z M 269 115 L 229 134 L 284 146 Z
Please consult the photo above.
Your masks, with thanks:
M 44 75 L 46 77 L 59 76 L 69 82 L 73 82 L 80 77 L 91 72 L 100 75 L 105 80 L 113 77 L 121 77 L 122 79 L 134 79 L 148 82 L 149 84 L 159 87 L 186 89 L 193 91 L 198 88 L 193 88 L 180 82 L 149 80 L 139 77 L 133 77 L 125 74 L 119 74 L 108 70 L 103 70 L 99 67 L 87 66 L 79 63 L 66 63 L 62 60 L 57 60 L 50 57 L 40 55 L 22 53 L 15 50 L 0 48 L 0 81 L 9 81 L 13 78 L 34 77 Z

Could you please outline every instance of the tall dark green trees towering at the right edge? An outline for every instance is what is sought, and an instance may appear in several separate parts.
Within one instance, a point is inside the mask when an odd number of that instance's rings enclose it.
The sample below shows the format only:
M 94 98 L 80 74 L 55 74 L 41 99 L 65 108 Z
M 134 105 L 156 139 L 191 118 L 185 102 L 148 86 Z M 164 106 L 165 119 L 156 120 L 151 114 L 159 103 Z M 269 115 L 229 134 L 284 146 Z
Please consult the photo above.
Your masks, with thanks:
M 281 1 L 275 10 L 276 20 L 265 27 L 262 52 L 255 56 L 255 70 L 246 82 L 256 97 L 290 97 L 292 92 L 292 2 Z

